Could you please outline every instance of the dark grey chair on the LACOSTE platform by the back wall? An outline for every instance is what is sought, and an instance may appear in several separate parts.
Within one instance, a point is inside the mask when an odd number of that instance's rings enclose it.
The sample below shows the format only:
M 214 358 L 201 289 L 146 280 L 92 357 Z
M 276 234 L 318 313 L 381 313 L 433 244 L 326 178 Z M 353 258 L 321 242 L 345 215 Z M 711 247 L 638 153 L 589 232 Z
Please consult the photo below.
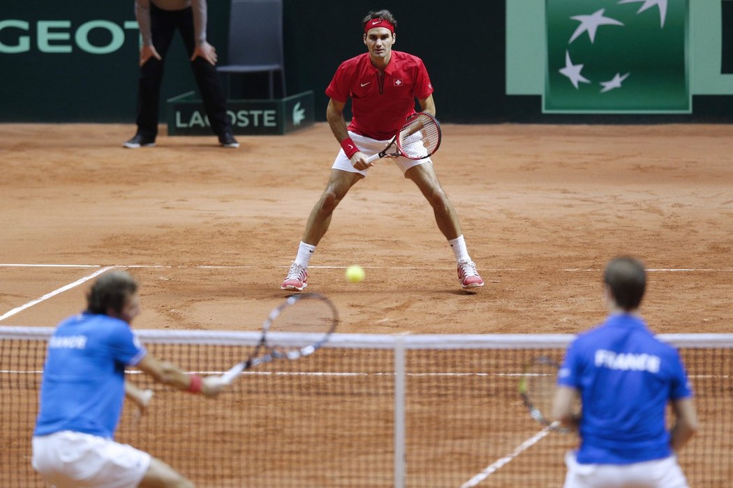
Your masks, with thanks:
M 229 12 L 229 64 L 216 67 L 226 73 L 226 94 L 232 75 L 268 73 L 270 99 L 274 76 L 280 73 L 285 97 L 285 61 L 282 40 L 282 0 L 233 0 Z

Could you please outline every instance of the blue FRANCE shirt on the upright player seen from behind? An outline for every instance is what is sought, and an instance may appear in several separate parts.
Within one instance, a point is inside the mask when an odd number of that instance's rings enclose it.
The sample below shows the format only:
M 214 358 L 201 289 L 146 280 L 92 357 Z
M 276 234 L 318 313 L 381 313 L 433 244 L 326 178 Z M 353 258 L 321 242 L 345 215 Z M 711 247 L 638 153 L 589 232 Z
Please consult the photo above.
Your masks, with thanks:
M 580 391 L 581 464 L 629 464 L 671 455 L 666 405 L 691 397 L 677 350 L 635 315 L 611 315 L 567 349 L 558 383 Z

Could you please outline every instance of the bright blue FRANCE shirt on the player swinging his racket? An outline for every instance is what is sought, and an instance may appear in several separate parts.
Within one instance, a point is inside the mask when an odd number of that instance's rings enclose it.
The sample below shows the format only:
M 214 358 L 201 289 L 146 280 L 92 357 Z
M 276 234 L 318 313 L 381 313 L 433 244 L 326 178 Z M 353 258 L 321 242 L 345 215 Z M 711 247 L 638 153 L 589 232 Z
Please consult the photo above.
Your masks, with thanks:
M 48 340 L 34 435 L 62 430 L 113 438 L 125 399 L 125 366 L 145 356 L 128 323 L 83 313 Z

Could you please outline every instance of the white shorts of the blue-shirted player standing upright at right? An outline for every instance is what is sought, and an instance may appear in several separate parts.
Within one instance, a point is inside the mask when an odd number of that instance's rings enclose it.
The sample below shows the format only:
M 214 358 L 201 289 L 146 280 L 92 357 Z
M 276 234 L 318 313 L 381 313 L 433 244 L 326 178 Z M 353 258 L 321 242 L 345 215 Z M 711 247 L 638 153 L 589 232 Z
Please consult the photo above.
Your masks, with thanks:
M 689 488 L 677 457 L 670 456 L 630 465 L 581 465 L 575 451 L 565 454 L 564 488 Z

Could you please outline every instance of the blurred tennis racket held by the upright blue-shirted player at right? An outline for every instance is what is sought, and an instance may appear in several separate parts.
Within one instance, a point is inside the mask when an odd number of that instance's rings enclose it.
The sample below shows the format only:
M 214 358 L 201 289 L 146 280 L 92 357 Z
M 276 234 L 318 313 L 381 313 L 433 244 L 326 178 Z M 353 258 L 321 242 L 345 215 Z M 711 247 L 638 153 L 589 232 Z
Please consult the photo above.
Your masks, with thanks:
M 529 415 L 540 424 L 560 432 L 570 432 L 567 427 L 560 427 L 559 421 L 550 418 L 552 402 L 557 384 L 557 371 L 560 365 L 547 356 L 539 356 L 524 367 L 519 382 L 519 394 Z M 574 405 L 575 412 L 580 412 L 580 401 Z

